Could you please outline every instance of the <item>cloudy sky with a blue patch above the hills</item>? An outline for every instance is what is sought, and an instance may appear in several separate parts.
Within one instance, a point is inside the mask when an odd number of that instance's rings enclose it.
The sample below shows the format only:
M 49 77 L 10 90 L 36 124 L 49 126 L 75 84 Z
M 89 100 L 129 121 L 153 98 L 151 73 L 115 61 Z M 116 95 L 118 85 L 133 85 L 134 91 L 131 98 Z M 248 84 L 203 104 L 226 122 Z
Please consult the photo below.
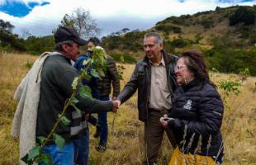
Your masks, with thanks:
M 168 16 L 193 14 L 218 7 L 256 5 L 256 0 L 0 0 L 0 19 L 22 35 L 51 35 L 64 14 L 83 7 L 96 19 L 101 36 L 120 31 L 148 29 Z

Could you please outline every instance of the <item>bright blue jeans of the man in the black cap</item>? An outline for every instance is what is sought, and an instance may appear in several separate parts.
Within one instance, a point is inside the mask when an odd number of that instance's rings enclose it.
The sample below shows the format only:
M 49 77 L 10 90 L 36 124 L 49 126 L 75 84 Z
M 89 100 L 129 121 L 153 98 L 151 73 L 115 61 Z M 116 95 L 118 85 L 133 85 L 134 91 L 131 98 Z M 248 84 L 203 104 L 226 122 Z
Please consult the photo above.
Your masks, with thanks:
M 60 149 L 56 144 L 45 145 L 43 153 L 50 155 L 52 162 L 55 165 L 70 165 L 73 164 L 73 143 L 69 142 Z M 45 165 L 45 163 L 39 163 Z

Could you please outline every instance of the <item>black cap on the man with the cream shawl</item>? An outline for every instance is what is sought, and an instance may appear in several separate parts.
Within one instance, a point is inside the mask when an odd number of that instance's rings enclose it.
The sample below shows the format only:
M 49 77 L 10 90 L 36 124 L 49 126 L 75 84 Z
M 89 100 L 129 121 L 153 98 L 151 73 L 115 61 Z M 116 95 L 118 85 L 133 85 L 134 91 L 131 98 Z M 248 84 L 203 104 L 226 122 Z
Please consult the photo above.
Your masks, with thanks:
M 86 45 L 87 41 L 79 37 L 78 32 L 73 27 L 59 26 L 55 33 L 55 43 L 72 40 L 78 45 Z

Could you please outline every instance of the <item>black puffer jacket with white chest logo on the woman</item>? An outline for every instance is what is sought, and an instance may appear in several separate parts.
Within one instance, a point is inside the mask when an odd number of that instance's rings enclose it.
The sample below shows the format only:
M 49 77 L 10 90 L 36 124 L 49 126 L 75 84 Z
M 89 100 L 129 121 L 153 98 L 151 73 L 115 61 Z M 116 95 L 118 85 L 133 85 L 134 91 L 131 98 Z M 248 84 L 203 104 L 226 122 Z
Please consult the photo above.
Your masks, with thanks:
M 183 153 L 208 155 L 221 162 L 223 141 L 220 133 L 224 106 L 216 89 L 194 79 L 173 93 L 168 122 Z M 184 141 L 185 140 L 185 141 Z M 185 142 L 185 143 L 183 143 Z

